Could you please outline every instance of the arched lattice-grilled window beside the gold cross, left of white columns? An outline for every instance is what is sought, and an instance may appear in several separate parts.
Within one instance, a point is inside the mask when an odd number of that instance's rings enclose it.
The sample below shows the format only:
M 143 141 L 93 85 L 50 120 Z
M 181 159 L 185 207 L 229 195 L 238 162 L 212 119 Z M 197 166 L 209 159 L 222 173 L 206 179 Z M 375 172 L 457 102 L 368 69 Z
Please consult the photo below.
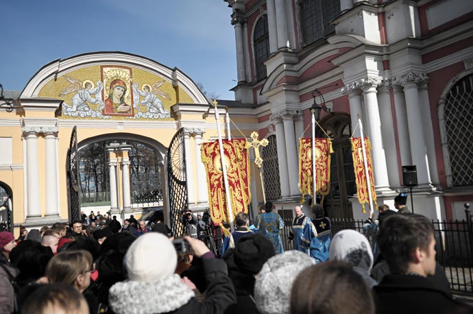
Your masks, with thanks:
M 263 158 L 263 181 L 265 182 L 266 200 L 278 200 L 281 196 L 281 185 L 279 180 L 278 146 L 276 135 L 268 138 L 269 144 L 261 149 Z

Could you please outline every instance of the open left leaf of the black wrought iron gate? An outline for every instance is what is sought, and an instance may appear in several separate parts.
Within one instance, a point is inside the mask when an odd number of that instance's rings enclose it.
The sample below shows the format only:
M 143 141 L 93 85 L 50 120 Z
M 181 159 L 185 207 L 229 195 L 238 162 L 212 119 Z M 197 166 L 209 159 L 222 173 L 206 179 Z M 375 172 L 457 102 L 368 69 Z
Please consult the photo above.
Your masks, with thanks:
M 71 134 L 71 142 L 67 150 L 67 202 L 69 206 L 69 219 L 80 219 L 80 174 L 79 151 L 77 150 L 77 126 Z

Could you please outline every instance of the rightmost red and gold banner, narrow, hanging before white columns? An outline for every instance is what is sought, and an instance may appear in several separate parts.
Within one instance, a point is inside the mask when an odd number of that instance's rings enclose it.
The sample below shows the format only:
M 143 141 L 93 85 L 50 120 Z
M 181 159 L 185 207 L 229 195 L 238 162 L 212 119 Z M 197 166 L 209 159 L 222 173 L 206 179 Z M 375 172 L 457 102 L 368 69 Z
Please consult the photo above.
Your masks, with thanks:
M 366 154 L 366 163 L 368 165 L 368 176 L 369 184 L 371 186 L 371 195 L 375 204 L 375 208 L 378 208 L 376 204 L 376 191 L 374 189 L 374 179 L 373 179 L 373 163 L 371 159 L 371 142 L 369 138 L 365 137 L 365 154 Z M 352 137 L 352 157 L 353 157 L 353 169 L 354 175 L 356 178 L 356 193 L 358 194 L 358 201 L 363 208 L 363 213 L 366 213 L 365 204 L 369 203 L 368 197 L 368 187 L 366 180 L 365 165 L 363 161 L 363 149 L 361 146 L 360 137 Z

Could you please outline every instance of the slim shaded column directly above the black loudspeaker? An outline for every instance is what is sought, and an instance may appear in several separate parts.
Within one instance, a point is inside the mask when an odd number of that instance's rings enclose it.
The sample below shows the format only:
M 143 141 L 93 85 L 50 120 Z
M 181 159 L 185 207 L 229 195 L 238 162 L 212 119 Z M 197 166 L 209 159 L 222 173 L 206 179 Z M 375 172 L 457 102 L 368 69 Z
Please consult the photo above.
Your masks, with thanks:
M 406 101 L 402 86 L 393 86 L 394 108 L 396 110 L 396 125 L 398 126 L 398 141 L 403 166 L 412 165 L 409 127 L 407 126 Z

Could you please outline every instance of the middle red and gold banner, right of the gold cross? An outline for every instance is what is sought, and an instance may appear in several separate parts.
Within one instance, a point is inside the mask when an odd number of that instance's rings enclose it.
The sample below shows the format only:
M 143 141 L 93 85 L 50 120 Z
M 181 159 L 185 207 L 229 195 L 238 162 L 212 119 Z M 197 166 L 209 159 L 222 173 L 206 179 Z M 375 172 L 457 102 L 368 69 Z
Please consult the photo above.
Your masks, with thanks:
M 330 192 L 330 154 L 332 152 L 330 138 L 315 138 L 316 192 L 322 196 Z M 299 189 L 302 197 L 306 194 L 313 196 L 312 138 L 299 139 Z

